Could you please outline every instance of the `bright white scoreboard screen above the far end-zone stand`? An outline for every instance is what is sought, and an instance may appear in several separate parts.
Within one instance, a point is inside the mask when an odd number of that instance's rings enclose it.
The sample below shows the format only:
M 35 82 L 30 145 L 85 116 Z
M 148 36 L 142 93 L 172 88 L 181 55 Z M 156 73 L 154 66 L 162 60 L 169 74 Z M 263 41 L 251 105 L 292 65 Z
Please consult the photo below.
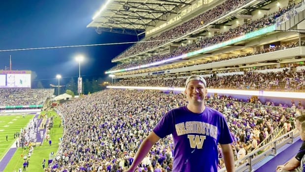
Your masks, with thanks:
M 0 88 L 30 88 L 31 71 L 0 70 Z

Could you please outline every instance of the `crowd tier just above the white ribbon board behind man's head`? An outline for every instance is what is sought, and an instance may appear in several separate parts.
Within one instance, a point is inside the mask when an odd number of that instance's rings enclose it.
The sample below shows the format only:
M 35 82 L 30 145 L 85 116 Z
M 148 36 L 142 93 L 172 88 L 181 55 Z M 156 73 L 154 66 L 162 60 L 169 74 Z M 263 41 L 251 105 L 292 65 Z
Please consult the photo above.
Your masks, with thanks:
M 264 89 L 264 90 L 300 90 L 305 85 L 305 70 L 283 70 L 260 73 L 258 70 L 244 71 L 244 74 L 206 77 L 208 88 Z M 194 73 L 202 75 L 203 73 Z M 157 86 L 183 87 L 189 74 L 171 75 L 168 78 L 122 79 L 116 86 Z

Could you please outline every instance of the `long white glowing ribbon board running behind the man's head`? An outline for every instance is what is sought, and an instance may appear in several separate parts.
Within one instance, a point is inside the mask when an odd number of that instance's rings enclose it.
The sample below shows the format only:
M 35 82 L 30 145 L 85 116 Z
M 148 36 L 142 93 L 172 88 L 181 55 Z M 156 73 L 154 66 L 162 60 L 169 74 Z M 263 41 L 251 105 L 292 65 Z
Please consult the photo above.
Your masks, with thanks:
M 114 89 L 138 89 L 138 90 L 163 90 L 163 91 L 184 91 L 184 87 L 130 87 L 130 86 L 107 86 L 106 88 Z M 260 97 L 275 98 L 293 98 L 304 99 L 305 93 L 300 92 L 279 92 L 279 91 L 248 91 L 248 90 L 227 90 L 227 89 L 209 89 L 208 93 L 231 94 L 231 95 L 252 95 Z

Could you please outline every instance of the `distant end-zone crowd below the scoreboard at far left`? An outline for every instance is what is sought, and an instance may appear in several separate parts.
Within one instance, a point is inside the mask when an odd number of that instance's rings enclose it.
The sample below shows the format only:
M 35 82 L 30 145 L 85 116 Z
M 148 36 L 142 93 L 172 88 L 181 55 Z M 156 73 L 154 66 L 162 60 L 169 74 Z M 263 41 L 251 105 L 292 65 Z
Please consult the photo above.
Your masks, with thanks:
M 54 89 L 1 88 L 0 106 L 43 104 Z

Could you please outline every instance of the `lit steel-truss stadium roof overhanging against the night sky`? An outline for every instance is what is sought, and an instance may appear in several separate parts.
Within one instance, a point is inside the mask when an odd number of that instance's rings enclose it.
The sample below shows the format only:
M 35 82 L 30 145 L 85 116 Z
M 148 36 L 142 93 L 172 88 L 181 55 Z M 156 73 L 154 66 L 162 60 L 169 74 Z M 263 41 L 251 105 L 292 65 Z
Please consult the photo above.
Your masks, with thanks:
M 144 32 L 195 0 L 108 0 L 87 27 L 96 32 Z M 128 33 L 126 33 L 128 34 Z

